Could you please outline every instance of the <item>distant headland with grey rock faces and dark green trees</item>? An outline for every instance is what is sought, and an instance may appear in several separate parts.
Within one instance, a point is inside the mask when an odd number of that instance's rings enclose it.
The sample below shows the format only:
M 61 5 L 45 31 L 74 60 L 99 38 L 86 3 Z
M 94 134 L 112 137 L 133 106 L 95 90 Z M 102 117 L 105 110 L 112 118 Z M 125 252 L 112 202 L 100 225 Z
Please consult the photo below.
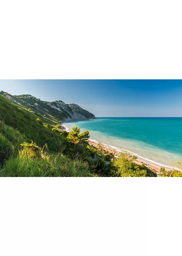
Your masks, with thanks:
M 77 120 L 87 120 L 96 119 L 94 114 L 82 109 L 76 104 L 66 104 L 63 101 L 41 101 L 33 97 L 32 95 L 11 95 L 0 92 L 5 98 L 9 99 L 16 105 L 24 107 L 29 111 L 35 112 L 36 114 L 45 115 L 51 120 L 56 120 L 59 122 L 77 121 Z

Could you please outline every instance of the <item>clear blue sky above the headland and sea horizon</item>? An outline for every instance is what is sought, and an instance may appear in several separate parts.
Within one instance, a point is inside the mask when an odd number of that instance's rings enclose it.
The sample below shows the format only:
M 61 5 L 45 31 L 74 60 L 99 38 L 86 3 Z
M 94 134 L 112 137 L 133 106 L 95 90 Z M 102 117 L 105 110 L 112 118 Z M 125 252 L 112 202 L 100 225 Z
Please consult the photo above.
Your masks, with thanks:
M 182 80 L 0 80 L 0 90 L 76 103 L 97 117 L 182 117 Z

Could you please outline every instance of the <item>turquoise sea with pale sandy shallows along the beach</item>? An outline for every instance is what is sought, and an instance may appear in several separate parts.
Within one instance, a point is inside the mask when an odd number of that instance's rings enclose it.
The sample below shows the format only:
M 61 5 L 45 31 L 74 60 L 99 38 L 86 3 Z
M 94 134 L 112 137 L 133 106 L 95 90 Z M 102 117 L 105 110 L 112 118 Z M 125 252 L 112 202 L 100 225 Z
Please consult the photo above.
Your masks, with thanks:
M 90 138 L 165 166 L 182 161 L 182 118 L 98 117 L 65 124 L 88 130 Z

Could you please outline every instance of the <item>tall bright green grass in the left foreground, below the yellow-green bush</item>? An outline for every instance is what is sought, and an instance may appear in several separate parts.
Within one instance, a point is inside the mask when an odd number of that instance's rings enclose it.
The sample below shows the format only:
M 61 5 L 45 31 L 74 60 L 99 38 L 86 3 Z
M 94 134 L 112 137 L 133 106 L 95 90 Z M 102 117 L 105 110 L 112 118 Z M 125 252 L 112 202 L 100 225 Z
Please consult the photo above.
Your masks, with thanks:
M 63 155 L 26 159 L 20 155 L 10 158 L 0 171 L 1 177 L 92 177 L 88 163 L 73 161 Z

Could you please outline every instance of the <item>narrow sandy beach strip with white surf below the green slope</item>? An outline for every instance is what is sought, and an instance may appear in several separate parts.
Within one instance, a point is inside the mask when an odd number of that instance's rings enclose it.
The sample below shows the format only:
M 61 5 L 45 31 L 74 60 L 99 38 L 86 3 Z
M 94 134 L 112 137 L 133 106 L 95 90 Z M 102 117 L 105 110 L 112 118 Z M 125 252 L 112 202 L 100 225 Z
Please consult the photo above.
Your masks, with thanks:
M 66 123 L 72 123 L 72 122 L 64 122 L 62 123 L 62 127 L 64 127 L 63 129 L 66 130 L 66 131 L 70 131 L 70 129 L 68 127 L 66 127 Z M 105 144 L 105 143 L 102 143 L 101 141 L 97 141 L 97 140 L 94 140 L 94 139 L 89 139 L 90 141 L 90 144 L 92 144 L 93 146 L 97 146 L 98 143 L 101 143 L 103 145 L 103 148 L 110 152 L 110 153 L 116 153 L 117 156 L 120 155 L 121 152 L 123 152 L 123 150 L 121 150 L 120 148 L 117 148 L 117 147 L 114 147 L 114 146 L 111 146 L 111 145 L 108 145 L 108 144 Z M 155 162 L 151 159 L 148 159 L 146 157 L 142 157 L 138 154 L 135 154 L 134 152 L 131 152 L 129 150 L 126 150 L 127 153 L 130 153 L 131 155 L 135 155 L 137 156 L 137 160 L 135 161 L 135 163 L 138 163 L 141 165 L 141 163 L 143 162 L 143 164 L 146 164 L 149 168 L 152 167 L 153 169 L 155 169 L 157 171 L 157 173 L 160 172 L 160 169 L 161 167 L 165 167 L 166 170 L 171 170 L 171 169 L 175 169 L 175 170 L 180 170 L 179 168 L 176 168 L 176 167 L 172 167 L 172 166 L 167 166 L 167 165 L 164 165 L 162 163 L 158 163 L 158 162 Z

